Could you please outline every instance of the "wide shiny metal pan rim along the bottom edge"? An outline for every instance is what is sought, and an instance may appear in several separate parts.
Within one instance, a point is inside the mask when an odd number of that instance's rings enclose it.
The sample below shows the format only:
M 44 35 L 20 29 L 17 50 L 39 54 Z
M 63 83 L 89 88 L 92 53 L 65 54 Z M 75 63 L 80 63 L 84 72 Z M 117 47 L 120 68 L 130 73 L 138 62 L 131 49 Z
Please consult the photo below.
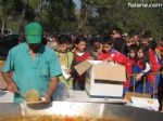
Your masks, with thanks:
M 124 105 L 102 103 L 52 102 L 49 105 L 0 104 L 0 117 L 70 116 L 108 118 L 130 121 L 163 121 L 163 113 Z

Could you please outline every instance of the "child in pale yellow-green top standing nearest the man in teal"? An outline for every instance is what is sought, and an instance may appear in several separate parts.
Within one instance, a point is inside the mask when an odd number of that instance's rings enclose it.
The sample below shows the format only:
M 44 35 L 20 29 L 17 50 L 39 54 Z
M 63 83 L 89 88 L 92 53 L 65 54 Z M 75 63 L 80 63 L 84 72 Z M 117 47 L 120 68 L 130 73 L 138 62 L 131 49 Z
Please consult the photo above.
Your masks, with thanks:
M 73 88 L 73 78 L 72 73 L 72 63 L 74 59 L 74 55 L 68 51 L 68 37 L 61 35 L 58 38 L 58 57 L 61 63 L 62 71 L 68 75 L 68 77 L 64 77 L 63 75 L 59 77 L 60 82 L 64 83 L 67 88 Z

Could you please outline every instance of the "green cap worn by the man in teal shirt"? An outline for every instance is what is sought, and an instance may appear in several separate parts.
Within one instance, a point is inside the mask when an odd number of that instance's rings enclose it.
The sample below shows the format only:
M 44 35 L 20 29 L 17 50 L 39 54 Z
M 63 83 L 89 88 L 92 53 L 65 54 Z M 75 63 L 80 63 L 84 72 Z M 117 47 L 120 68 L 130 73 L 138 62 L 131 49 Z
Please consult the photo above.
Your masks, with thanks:
M 42 26 L 38 22 L 29 23 L 25 27 L 26 40 L 28 43 L 41 43 Z

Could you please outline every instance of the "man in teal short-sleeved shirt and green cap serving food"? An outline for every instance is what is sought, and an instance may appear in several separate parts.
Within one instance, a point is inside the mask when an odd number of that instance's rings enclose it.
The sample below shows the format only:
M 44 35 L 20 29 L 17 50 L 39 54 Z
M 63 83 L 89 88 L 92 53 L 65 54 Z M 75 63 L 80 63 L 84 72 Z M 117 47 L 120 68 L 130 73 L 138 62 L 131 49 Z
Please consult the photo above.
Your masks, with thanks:
M 35 89 L 49 103 L 58 85 L 57 77 L 62 75 L 62 70 L 54 51 L 41 44 L 42 33 L 39 23 L 26 25 L 26 42 L 10 50 L 2 76 L 8 83 L 8 91 L 26 93 Z M 15 93 L 14 102 L 22 100 L 23 98 Z

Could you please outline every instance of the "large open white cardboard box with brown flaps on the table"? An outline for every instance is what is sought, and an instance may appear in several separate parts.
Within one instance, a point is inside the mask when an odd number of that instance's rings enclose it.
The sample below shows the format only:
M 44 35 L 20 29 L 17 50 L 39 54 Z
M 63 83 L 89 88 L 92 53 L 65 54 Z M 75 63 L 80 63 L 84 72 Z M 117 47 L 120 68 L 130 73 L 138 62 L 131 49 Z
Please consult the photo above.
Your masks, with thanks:
M 126 69 L 120 64 L 85 60 L 75 66 L 79 75 L 86 72 L 86 91 L 92 97 L 122 97 Z

